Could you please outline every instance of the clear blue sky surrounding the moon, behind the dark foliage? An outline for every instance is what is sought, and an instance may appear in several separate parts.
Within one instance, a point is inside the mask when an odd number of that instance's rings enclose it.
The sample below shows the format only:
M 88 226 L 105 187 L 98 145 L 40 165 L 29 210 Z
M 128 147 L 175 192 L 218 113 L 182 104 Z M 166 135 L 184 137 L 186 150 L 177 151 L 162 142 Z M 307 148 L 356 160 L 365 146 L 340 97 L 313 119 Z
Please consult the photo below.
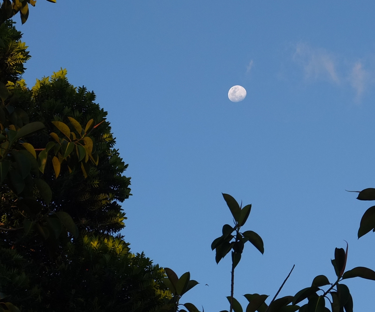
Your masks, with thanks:
M 18 28 L 32 58 L 24 75 L 68 69 L 109 112 L 132 177 L 122 232 L 200 284 L 186 295 L 228 309 L 230 257 L 210 250 L 231 222 L 221 192 L 253 208 L 235 297 L 294 295 L 349 243 L 347 268 L 375 269 L 374 234 L 357 240 L 371 206 L 345 190 L 374 184 L 375 3 L 371 1 L 38 1 Z M 18 20 L 18 18 L 16 18 Z M 233 103 L 228 90 L 247 90 Z M 209 286 L 205 286 L 205 284 Z M 356 311 L 375 282 L 348 280 Z M 241 298 L 242 297 L 242 298 Z

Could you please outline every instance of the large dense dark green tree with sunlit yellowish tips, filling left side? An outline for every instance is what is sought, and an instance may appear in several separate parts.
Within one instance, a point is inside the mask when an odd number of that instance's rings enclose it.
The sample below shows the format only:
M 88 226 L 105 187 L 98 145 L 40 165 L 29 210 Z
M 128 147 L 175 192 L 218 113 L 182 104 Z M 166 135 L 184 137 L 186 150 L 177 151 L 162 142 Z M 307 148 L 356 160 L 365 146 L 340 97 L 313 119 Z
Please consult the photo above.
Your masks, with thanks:
M 107 112 L 63 69 L 29 89 L 21 34 L 0 27 L 0 311 L 156 310 L 164 270 L 117 234 L 130 178 Z

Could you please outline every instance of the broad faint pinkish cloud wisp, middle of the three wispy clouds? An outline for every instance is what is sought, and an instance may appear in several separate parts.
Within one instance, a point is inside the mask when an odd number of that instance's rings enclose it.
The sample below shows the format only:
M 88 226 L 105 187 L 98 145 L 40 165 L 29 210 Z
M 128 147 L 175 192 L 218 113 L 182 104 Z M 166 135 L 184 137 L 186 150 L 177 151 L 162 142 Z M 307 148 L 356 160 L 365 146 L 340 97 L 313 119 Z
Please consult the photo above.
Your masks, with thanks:
M 303 67 L 305 78 L 308 80 L 328 80 L 335 84 L 340 83 L 335 56 L 325 49 L 312 48 L 300 42 L 296 45 L 293 60 Z

